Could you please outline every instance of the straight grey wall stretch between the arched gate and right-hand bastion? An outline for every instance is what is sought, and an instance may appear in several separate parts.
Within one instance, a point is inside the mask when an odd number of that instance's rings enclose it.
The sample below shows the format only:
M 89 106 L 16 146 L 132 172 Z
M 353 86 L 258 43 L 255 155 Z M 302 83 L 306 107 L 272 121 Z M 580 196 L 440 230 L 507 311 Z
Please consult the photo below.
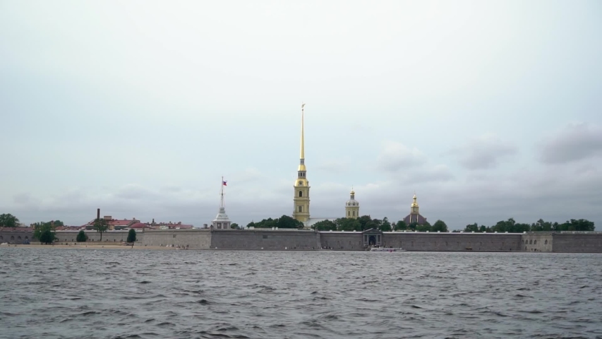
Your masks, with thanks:
M 521 251 L 522 234 L 385 232 L 383 246 L 408 251 Z

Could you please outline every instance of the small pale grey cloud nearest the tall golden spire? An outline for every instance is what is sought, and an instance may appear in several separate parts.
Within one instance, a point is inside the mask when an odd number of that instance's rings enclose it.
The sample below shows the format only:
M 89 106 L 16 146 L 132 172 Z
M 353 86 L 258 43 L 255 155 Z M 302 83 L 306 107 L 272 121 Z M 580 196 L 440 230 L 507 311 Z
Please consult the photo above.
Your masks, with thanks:
M 426 164 L 426 155 L 416 148 L 402 143 L 387 142 L 377 158 L 379 169 L 386 172 L 398 172 L 401 169 L 420 167 Z

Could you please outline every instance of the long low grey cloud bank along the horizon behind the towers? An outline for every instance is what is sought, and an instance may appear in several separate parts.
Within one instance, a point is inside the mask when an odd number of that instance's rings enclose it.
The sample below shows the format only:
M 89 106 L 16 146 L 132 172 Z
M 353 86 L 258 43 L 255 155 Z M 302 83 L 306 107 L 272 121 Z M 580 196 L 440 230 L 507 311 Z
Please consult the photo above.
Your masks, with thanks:
M 373 218 L 388 217 L 399 220 L 409 213 L 411 196 L 416 190 L 421 213 L 430 221 L 442 219 L 450 229 L 461 229 L 478 222 L 492 225 L 499 220 L 515 218 L 519 222 L 534 222 L 538 218 L 562 222 L 570 218 L 586 218 L 602 226 L 602 172 L 589 167 L 575 176 L 575 168 L 558 171 L 520 169 L 495 177 L 478 177 L 470 182 L 428 181 L 399 182 L 389 179 L 356 185 L 356 198 L 361 213 Z M 445 173 L 446 167 L 437 167 Z M 433 174 L 434 175 L 434 174 Z M 445 177 L 445 176 L 444 176 Z M 285 187 L 286 186 L 286 187 Z M 275 218 L 292 213 L 291 184 L 278 182 L 275 190 L 258 187 L 234 189 L 228 192 L 226 208 L 231 220 L 246 225 L 251 220 Z M 150 190 L 150 189 L 148 189 Z M 24 196 L 27 196 L 26 194 Z M 337 217 L 344 213 L 344 202 L 349 196 L 347 186 L 336 183 L 316 184 L 312 189 L 312 215 Z M 252 197 L 252 198 L 249 198 Z M 219 206 L 217 194 L 186 190 L 178 194 L 142 196 L 138 200 L 119 200 L 110 194 L 66 194 L 56 201 L 44 204 L 13 206 L 11 213 L 25 223 L 61 219 L 68 225 L 82 225 L 95 218 L 96 208 L 103 215 L 114 218 L 132 218 L 150 221 L 192 223 L 202 226 L 215 217 Z

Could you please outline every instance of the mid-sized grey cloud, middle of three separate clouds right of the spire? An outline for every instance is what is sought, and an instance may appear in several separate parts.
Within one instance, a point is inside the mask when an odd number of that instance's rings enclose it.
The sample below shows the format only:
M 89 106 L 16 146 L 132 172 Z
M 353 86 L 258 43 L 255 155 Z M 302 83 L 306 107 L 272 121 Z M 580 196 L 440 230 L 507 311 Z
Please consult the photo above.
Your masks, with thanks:
M 474 138 L 450 153 L 459 155 L 459 163 L 466 169 L 491 169 L 498 166 L 501 157 L 514 155 L 517 152 L 516 145 L 488 134 Z

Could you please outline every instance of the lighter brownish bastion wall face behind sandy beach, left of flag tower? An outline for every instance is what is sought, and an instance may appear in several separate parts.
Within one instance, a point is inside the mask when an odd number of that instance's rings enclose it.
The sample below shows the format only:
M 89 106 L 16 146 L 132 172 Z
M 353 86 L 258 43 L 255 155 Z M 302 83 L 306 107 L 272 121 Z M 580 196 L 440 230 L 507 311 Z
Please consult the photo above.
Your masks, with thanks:
M 142 246 L 180 246 L 188 249 L 209 249 L 210 230 L 145 230 L 137 232 Z

